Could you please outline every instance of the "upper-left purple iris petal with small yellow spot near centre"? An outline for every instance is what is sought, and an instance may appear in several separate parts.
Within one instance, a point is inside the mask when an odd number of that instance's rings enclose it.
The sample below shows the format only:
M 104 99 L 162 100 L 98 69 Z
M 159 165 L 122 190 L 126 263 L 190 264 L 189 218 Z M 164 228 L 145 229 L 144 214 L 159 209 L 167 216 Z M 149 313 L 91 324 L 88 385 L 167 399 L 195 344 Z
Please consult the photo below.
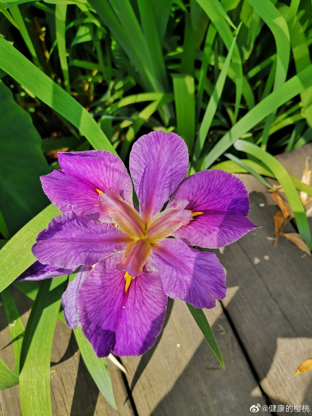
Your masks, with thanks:
M 121 159 L 104 150 L 59 153 L 61 171 L 41 176 L 50 201 L 61 211 L 74 211 L 99 221 L 111 218 L 99 209 L 98 197 L 107 188 L 116 188 L 132 202 L 132 183 Z

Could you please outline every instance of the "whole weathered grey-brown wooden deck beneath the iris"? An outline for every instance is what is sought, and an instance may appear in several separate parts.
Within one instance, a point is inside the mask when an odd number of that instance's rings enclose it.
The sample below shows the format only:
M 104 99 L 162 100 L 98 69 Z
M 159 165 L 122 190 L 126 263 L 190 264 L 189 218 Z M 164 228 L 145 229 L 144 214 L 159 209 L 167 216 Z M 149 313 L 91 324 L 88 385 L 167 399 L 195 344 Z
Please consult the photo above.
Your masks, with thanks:
M 312 144 L 278 158 L 301 178 L 308 155 L 312 156 Z M 300 414 L 312 414 L 312 371 L 295 377 L 297 366 L 312 357 L 312 259 L 285 238 L 274 247 L 272 217 L 277 206 L 252 176 L 240 178 L 250 193 L 249 218 L 262 228 L 217 250 L 226 270 L 228 294 L 205 313 L 226 371 L 184 302 L 170 301 L 156 346 L 142 357 L 122 359 L 126 377 L 110 365 L 118 404 L 114 411 L 89 376 L 71 331 L 58 322 L 51 358 L 54 415 L 245 416 L 254 404 L 276 405 L 276 409 L 305 404 L 311 413 Z M 294 231 L 292 224 L 288 228 Z M 26 321 L 31 303 L 17 290 L 15 299 Z M 3 307 L 0 330 L 0 355 L 13 364 L 11 346 L 5 347 L 10 334 Z M 0 415 L 20 414 L 18 386 L 0 391 Z M 276 414 L 289 412 L 284 407 Z

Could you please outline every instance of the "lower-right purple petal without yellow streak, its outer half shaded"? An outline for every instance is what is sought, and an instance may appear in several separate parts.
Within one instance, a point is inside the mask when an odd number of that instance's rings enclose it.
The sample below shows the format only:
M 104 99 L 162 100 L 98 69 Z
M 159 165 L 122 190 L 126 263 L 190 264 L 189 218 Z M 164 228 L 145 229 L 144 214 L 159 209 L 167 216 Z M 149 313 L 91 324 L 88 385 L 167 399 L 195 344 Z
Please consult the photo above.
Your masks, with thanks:
M 225 297 L 225 272 L 215 253 L 166 238 L 152 245 L 151 262 L 158 269 L 163 290 L 196 308 L 213 308 Z

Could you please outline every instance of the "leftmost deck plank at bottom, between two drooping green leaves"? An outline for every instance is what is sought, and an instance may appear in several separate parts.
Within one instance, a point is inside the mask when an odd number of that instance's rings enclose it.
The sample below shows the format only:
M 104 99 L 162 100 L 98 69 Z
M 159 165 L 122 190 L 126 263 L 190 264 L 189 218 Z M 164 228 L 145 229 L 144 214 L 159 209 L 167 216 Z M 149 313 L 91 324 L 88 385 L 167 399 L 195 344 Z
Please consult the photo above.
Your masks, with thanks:
M 82 357 L 80 357 L 72 331 L 62 322 L 57 322 L 51 367 L 51 397 L 55 416 L 66 415 L 133 415 L 127 399 L 120 371 L 110 366 L 116 402 L 119 410 L 109 406 L 99 393 Z

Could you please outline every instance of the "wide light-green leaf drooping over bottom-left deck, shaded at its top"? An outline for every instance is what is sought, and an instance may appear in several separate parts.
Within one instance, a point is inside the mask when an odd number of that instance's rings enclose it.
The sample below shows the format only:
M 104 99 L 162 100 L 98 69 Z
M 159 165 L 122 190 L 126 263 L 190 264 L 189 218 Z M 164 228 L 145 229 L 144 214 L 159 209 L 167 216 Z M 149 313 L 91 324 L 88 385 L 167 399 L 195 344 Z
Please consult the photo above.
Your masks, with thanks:
M 50 360 L 66 280 L 67 276 L 44 280 L 30 312 L 20 362 L 20 401 L 23 416 L 52 415 Z

